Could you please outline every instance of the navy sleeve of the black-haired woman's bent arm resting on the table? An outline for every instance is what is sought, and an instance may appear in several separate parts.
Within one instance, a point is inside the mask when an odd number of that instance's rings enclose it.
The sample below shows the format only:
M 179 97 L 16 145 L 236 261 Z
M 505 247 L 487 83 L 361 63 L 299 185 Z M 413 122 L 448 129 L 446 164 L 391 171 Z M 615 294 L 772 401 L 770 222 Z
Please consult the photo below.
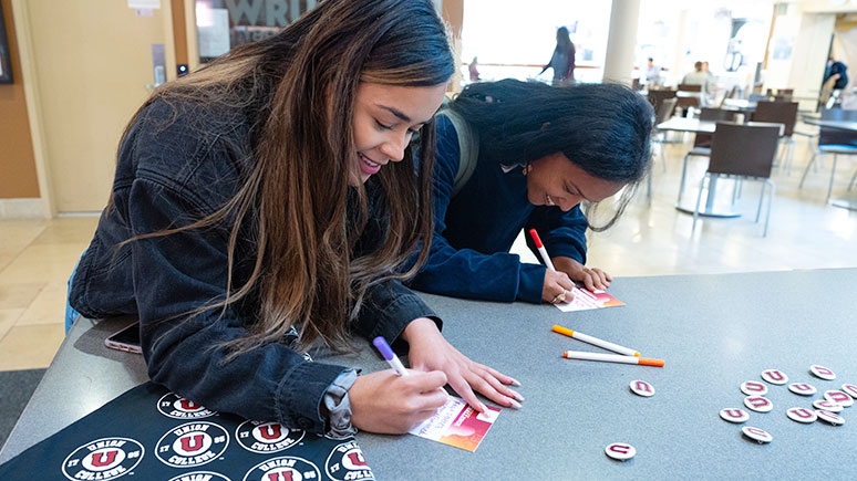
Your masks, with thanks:
M 446 210 L 461 164 L 461 150 L 455 128 L 443 116 L 437 119 L 436 150 L 434 233 L 430 255 L 409 285 L 454 297 L 540 303 L 544 266 L 522 264 L 520 257 L 509 252 L 484 254 L 472 249 L 455 249 L 444 238 Z

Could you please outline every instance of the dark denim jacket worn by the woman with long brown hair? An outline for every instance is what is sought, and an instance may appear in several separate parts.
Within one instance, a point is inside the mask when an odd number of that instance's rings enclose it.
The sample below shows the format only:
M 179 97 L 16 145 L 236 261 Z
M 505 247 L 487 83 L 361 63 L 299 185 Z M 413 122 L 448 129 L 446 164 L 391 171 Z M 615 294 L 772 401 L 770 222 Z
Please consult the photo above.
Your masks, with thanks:
M 175 122 L 166 125 L 174 115 Z M 180 396 L 217 411 L 322 433 L 322 397 L 350 368 L 308 362 L 286 342 L 224 364 L 221 344 L 247 334 L 257 316 L 258 296 L 226 312 L 187 315 L 224 299 L 229 222 L 138 240 L 116 250 L 132 236 L 186 226 L 233 197 L 252 163 L 251 118 L 249 109 L 218 112 L 187 102 L 156 101 L 145 108 L 120 147 L 113 205 L 102 213 L 79 264 L 70 301 L 91 318 L 138 316 L 149 377 Z M 238 140 L 239 148 L 230 148 L 225 139 Z M 241 236 L 234 269 L 238 285 L 251 269 L 251 239 Z M 379 232 L 366 232 L 360 243 L 375 245 L 378 239 Z M 392 341 L 414 318 L 433 317 L 399 282 L 380 284 L 369 297 L 350 326 L 366 338 L 382 335 Z

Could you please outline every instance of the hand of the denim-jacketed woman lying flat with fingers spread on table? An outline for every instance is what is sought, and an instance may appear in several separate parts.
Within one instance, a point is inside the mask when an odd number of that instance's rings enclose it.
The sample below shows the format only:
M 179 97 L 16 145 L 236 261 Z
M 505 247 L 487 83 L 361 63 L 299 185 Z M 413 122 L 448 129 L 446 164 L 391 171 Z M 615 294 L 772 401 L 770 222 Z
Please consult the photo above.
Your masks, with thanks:
M 484 412 L 485 405 L 474 391 L 500 406 L 516 409 L 520 407 L 519 401 L 523 401 L 524 397 L 508 387 L 520 384 L 460 353 L 441 334 L 434 321 L 427 317 L 412 321 L 402 337 L 411 346 L 407 358 L 412 369 L 444 372 L 450 386 L 477 411 Z

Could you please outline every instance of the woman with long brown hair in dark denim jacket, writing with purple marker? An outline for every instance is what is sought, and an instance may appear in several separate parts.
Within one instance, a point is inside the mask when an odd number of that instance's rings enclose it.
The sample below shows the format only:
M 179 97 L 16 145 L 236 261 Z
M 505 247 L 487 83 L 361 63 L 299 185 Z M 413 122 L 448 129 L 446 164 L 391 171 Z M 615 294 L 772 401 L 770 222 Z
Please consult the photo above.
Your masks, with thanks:
M 404 287 L 431 236 L 411 136 L 455 71 L 430 0 L 326 0 L 168 82 L 137 111 L 72 281 L 92 318 L 135 315 L 152 380 L 209 409 L 334 438 L 404 433 L 447 399 L 519 406 Z M 410 347 L 410 376 L 311 362 L 314 345 Z M 317 343 L 318 342 L 318 343 Z

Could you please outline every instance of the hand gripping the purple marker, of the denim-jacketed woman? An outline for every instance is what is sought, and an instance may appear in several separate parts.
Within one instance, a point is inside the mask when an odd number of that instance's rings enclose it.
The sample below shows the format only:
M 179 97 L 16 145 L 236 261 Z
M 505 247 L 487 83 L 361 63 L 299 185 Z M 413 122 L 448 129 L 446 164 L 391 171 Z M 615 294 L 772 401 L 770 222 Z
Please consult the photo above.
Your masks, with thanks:
M 407 369 L 399 376 L 392 369 L 358 376 L 348 390 L 351 422 L 364 431 L 402 435 L 434 416 L 446 402 L 446 375 Z

